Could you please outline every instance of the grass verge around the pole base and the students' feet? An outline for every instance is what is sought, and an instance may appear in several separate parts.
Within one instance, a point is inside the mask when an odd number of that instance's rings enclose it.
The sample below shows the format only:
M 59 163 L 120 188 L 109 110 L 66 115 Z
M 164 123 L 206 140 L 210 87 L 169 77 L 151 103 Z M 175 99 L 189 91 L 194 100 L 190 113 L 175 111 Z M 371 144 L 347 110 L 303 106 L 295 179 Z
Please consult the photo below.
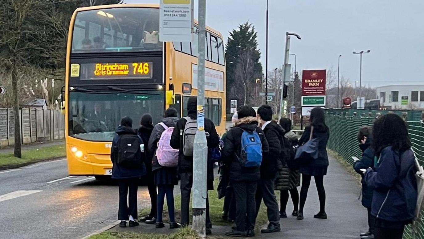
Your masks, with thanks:
M 215 190 L 208 191 L 209 195 L 209 213 L 212 221 L 212 225 L 223 225 L 223 226 L 232 226 L 232 223 L 222 219 L 222 208 L 224 204 L 223 199 L 218 199 L 217 186 L 218 181 L 215 179 Z M 277 191 L 276 191 L 277 193 Z M 277 198 L 279 198 L 279 193 L 277 193 Z M 176 195 L 174 197 L 175 201 L 175 216 L 176 221 L 178 222 L 181 218 L 181 195 Z M 191 202 L 190 202 L 191 208 Z M 143 208 L 139 211 L 139 216 L 146 216 L 150 213 L 150 208 Z M 190 211 L 191 213 L 191 211 Z M 169 223 L 168 219 L 168 209 L 166 201 L 164 203 L 164 209 L 162 214 L 163 221 Z M 190 219 L 191 221 L 191 219 Z M 256 218 L 256 230 L 259 230 L 268 222 L 267 212 L 265 205 L 262 203 L 261 209 L 259 210 L 258 216 Z M 91 236 L 89 239 L 138 239 L 138 238 L 148 238 L 148 239 L 200 239 L 198 235 L 188 228 L 180 228 L 176 233 L 164 235 L 164 234 L 148 234 L 148 233 L 122 233 L 122 232 L 103 232 L 95 236 Z M 220 239 L 226 238 L 222 236 L 208 236 L 208 238 Z

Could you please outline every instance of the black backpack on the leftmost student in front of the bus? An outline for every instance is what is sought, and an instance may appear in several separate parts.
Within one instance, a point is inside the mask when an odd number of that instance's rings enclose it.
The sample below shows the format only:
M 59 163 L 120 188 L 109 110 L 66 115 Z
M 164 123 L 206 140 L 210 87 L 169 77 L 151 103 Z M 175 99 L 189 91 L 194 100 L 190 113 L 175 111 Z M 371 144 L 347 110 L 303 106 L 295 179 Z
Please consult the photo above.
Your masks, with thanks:
M 116 149 L 118 165 L 125 168 L 136 168 L 142 164 L 140 139 L 137 134 L 120 135 Z

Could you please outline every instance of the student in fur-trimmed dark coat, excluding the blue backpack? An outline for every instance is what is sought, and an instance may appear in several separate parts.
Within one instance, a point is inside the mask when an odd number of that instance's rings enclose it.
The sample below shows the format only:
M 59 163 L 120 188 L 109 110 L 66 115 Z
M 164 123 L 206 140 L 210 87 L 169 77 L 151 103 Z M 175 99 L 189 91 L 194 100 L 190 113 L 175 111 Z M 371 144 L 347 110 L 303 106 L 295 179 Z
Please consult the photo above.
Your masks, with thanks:
M 242 167 L 237 157 L 240 156 L 243 130 L 256 131 L 259 134 L 262 143 L 262 156 L 269 152 L 269 148 L 264 132 L 258 127 L 255 110 L 248 105 L 243 105 L 237 114 L 239 119 L 235 123 L 236 127 L 228 131 L 222 151 L 223 162 L 230 168 L 229 180 L 234 188 L 236 200 L 236 229 L 227 232 L 226 235 L 254 236 L 256 218 L 255 195 L 261 174 L 259 167 Z

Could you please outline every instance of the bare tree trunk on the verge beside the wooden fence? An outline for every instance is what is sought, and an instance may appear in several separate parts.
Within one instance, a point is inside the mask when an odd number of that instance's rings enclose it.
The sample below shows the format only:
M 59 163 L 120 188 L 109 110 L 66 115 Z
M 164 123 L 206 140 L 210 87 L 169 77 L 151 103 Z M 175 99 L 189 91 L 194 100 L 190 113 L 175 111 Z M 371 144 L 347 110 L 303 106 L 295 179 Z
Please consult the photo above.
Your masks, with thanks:
M 15 117 L 15 148 L 13 155 L 22 158 L 21 153 L 21 128 L 19 117 L 19 100 L 18 100 L 18 71 L 16 64 L 12 66 L 12 95 L 13 95 L 13 114 Z

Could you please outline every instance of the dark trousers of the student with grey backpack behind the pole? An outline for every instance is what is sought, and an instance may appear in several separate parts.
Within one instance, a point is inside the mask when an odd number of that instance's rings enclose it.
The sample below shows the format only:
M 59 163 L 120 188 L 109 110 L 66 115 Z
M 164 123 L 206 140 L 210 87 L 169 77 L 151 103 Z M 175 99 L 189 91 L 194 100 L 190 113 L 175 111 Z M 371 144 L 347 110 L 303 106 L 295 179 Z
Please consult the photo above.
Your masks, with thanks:
M 190 194 L 193 186 L 193 173 L 180 174 L 181 191 L 181 224 L 189 225 L 190 222 Z M 212 222 L 209 216 L 209 196 L 206 194 L 206 228 L 212 228 Z

